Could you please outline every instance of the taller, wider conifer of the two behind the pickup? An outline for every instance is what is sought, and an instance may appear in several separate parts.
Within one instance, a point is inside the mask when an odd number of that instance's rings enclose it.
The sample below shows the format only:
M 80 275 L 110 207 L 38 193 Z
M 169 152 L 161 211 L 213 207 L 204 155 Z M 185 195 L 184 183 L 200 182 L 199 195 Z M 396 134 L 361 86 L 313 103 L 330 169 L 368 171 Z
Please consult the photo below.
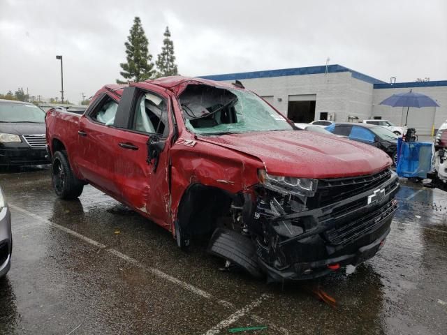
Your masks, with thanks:
M 127 40 L 124 43 L 127 63 L 119 64 L 123 69 L 119 74 L 127 81 L 117 79 L 117 84 L 141 82 L 153 78 L 156 70 L 152 62 L 152 54 L 149 54 L 149 41 L 142 29 L 140 17 L 137 16 L 133 20 L 133 26 L 129 31 Z

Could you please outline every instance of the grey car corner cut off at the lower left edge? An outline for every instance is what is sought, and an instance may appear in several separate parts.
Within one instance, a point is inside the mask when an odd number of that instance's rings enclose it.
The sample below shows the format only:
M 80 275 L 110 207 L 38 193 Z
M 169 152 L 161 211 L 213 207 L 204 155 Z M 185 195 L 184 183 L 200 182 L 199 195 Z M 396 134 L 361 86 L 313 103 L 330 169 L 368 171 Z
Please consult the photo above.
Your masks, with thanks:
M 13 234 L 11 232 L 11 216 L 0 188 L 0 278 L 5 276 L 10 268 L 13 251 Z

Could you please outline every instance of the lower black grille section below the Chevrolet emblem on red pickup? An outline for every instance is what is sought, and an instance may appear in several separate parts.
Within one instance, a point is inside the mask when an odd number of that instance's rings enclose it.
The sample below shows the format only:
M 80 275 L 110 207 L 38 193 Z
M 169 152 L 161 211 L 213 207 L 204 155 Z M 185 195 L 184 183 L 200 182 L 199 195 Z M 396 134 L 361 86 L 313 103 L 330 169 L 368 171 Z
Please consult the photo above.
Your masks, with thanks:
M 397 202 L 391 200 L 385 206 L 365 214 L 365 216 L 362 216 L 356 221 L 344 223 L 327 230 L 324 232 L 324 236 L 331 244 L 349 244 L 351 241 L 355 241 L 362 235 L 379 228 L 382 225 L 383 220 L 392 215 L 396 210 Z

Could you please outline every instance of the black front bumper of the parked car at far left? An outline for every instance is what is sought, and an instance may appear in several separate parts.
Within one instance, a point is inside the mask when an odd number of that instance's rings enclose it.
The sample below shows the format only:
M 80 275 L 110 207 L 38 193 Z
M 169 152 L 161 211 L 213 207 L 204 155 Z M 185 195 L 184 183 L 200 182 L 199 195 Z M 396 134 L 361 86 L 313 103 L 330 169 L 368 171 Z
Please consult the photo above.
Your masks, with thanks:
M 45 148 L 1 148 L 0 149 L 0 165 L 3 166 L 20 166 L 20 165 L 41 165 L 49 164 L 50 161 Z

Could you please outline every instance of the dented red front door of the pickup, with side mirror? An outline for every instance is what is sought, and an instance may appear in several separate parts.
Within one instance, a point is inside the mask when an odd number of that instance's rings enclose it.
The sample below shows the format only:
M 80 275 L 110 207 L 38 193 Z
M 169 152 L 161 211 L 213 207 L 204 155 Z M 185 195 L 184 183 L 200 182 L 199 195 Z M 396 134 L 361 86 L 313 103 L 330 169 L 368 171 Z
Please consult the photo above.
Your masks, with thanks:
M 170 97 L 165 89 L 146 84 L 129 88 L 129 123 L 115 128 L 115 184 L 122 202 L 170 229 L 169 163 L 173 136 Z M 115 125 L 116 126 L 116 125 Z

